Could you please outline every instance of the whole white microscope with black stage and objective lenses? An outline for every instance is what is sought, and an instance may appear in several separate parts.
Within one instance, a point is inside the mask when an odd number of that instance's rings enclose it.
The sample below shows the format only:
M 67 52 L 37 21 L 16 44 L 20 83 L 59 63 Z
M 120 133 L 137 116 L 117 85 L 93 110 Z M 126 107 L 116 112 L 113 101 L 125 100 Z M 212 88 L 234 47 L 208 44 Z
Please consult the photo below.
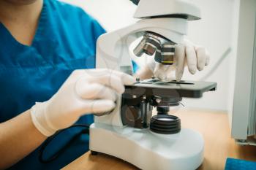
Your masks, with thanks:
M 97 68 L 132 74 L 130 45 L 141 38 L 132 51 L 140 57 L 151 55 L 162 64 L 173 64 L 175 45 L 184 41 L 189 20 L 200 19 L 200 9 L 184 0 L 140 0 L 137 23 L 103 34 L 97 40 Z M 215 82 L 170 81 L 152 77 L 127 85 L 118 96 L 116 108 L 94 117 L 90 126 L 89 149 L 132 163 L 139 169 L 197 169 L 203 163 L 203 136 L 168 115 L 182 98 L 200 98 L 216 90 Z M 157 115 L 152 110 L 157 108 Z

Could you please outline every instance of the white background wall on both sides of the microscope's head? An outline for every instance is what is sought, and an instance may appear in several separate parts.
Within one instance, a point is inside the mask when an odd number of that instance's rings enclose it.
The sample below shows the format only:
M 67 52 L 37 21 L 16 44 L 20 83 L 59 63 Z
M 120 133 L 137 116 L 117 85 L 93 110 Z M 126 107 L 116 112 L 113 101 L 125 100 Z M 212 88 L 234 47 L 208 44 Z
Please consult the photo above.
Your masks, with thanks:
M 108 31 L 128 26 L 135 22 L 132 18 L 136 6 L 129 0 L 63 0 L 83 7 L 102 23 Z M 190 0 L 202 10 L 202 20 L 189 23 L 189 39 L 207 47 L 211 53 L 211 64 L 203 72 L 190 75 L 186 71 L 184 80 L 200 80 L 219 60 L 222 53 L 231 45 L 231 30 L 233 17 L 233 0 Z M 206 93 L 200 99 L 184 99 L 187 107 L 201 109 L 227 110 L 229 70 L 232 58 L 228 56 L 219 65 L 207 81 L 218 83 L 216 92 Z

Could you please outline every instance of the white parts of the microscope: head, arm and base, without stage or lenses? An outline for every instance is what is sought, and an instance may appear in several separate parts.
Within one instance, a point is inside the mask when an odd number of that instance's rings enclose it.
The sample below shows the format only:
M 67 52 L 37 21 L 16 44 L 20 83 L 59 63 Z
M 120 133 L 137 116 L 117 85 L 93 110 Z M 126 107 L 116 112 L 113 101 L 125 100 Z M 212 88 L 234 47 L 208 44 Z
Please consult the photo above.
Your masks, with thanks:
M 182 0 L 140 0 L 135 18 L 127 28 L 103 34 L 97 40 L 96 67 L 131 74 L 129 45 L 152 32 L 176 44 L 187 34 L 188 20 L 200 19 L 200 9 Z M 203 163 L 203 136 L 181 128 L 178 134 L 155 134 L 148 128 L 132 128 L 121 120 L 121 97 L 109 115 L 94 117 L 89 149 L 121 158 L 140 169 L 197 169 Z

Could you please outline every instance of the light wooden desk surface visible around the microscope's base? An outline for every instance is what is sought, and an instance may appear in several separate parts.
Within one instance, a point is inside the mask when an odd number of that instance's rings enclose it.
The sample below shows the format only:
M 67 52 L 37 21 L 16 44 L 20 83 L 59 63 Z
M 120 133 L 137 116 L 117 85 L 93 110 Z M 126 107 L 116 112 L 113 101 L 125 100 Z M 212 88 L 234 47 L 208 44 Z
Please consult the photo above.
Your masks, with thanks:
M 256 161 L 256 147 L 239 146 L 230 137 L 230 127 L 227 114 L 223 112 L 182 111 L 175 114 L 181 118 L 183 128 L 192 128 L 203 134 L 205 139 L 205 152 L 200 170 L 223 170 L 226 158 L 240 158 Z M 86 152 L 64 169 L 80 170 L 132 170 L 138 169 L 131 164 L 109 155 L 96 156 Z

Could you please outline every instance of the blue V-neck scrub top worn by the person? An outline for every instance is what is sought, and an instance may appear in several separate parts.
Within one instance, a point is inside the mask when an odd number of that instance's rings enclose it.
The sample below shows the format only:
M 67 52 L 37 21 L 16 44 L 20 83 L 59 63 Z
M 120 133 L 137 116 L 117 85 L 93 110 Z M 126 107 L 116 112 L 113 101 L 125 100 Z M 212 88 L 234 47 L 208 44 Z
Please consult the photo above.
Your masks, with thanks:
M 35 101 L 47 101 L 73 70 L 94 68 L 96 41 L 103 33 L 102 26 L 82 9 L 56 0 L 44 1 L 31 46 L 17 42 L 0 23 L 0 123 L 30 109 Z M 83 116 L 78 123 L 93 123 L 93 116 Z M 46 157 L 79 131 L 61 134 Z M 89 136 L 83 135 L 51 163 L 39 163 L 37 149 L 10 169 L 61 169 L 87 150 Z

